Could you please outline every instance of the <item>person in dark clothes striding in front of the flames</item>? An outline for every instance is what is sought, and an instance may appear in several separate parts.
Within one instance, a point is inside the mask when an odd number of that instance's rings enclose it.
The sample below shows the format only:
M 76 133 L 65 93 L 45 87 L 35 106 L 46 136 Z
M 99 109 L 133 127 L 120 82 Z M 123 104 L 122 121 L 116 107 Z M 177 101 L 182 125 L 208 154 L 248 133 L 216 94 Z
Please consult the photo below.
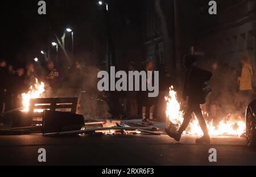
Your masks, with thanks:
M 166 132 L 176 141 L 180 141 L 181 134 L 188 127 L 192 119 L 192 113 L 194 112 L 199 121 L 199 125 L 204 132 L 204 136 L 197 139 L 196 142 L 209 143 L 210 137 L 207 129 L 207 124 L 201 112 L 200 104 L 205 103 L 205 93 L 203 88 L 205 87 L 205 82 L 208 82 L 212 77 L 212 73 L 210 71 L 198 68 L 196 66 L 196 61 L 197 58 L 193 55 L 188 55 L 184 57 L 184 66 L 187 69 L 187 71 L 185 74 L 183 88 L 183 100 L 185 101 L 188 98 L 188 106 L 184 114 L 183 123 L 178 132 L 172 133 L 168 129 L 166 129 Z

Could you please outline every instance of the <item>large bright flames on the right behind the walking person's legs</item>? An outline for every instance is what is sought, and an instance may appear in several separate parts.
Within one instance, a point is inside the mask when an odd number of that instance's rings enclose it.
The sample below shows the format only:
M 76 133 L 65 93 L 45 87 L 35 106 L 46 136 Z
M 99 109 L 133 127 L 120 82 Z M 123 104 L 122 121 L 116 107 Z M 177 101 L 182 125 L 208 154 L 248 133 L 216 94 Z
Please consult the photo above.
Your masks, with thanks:
M 166 96 L 166 101 L 166 116 L 168 117 L 168 120 L 170 120 L 170 122 L 176 127 L 180 127 L 180 125 L 183 123 L 184 112 L 180 111 L 180 103 L 177 101 L 177 95 L 174 91 L 174 87 L 170 88 L 169 96 Z M 245 132 L 245 128 L 245 122 L 242 120 L 221 121 L 216 126 L 214 126 L 213 123 L 208 123 L 210 136 L 241 136 Z M 184 134 L 203 136 L 203 132 L 197 119 L 191 122 Z

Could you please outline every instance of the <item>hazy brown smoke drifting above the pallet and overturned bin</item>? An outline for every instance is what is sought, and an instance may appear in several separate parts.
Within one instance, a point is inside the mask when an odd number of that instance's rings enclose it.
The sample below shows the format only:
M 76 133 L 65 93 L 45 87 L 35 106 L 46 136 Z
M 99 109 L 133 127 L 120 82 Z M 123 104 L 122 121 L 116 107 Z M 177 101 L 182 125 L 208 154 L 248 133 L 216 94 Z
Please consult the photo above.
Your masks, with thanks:
M 45 98 L 77 97 L 79 98 L 77 113 L 82 114 L 86 120 L 109 119 L 112 115 L 109 113 L 106 92 L 97 89 L 97 74 L 102 68 L 102 62 L 98 57 L 90 52 L 80 53 L 76 57 L 71 56 L 70 60 L 74 64 L 68 68 L 61 68 L 60 87 L 55 92 L 46 84 L 46 92 L 43 96 Z

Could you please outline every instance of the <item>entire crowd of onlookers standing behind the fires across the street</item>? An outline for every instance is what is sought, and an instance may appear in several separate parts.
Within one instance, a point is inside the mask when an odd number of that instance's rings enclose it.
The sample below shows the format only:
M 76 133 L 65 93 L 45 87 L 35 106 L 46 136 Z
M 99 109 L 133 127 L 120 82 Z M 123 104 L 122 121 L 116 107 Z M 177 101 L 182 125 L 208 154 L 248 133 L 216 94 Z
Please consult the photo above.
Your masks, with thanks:
M 248 57 L 241 58 L 240 69 L 232 68 L 228 64 L 220 64 L 217 61 L 209 61 L 208 69 L 212 72 L 212 78 L 208 85 L 212 92 L 207 96 L 203 109 L 209 113 L 207 119 L 218 123 L 230 113 L 245 112 L 247 104 L 253 95 L 253 69 Z M 45 68 L 45 69 L 44 69 Z M 152 61 L 145 61 L 137 66 L 134 62 L 127 65 L 127 71 L 145 70 L 153 71 L 155 68 Z M 46 67 L 38 66 L 35 62 L 28 62 L 25 67 L 14 69 L 13 65 L 5 60 L 0 62 L 0 111 L 6 112 L 11 109 L 22 107 L 22 94 L 28 91 L 38 81 L 46 83 L 46 96 L 77 96 L 84 91 L 85 99 L 82 109 L 89 114 L 92 107 L 91 99 L 108 95 L 105 99 L 112 115 L 118 115 L 121 119 L 142 118 L 144 123 L 149 121 L 166 119 L 166 101 L 170 86 L 175 85 L 171 73 L 164 64 L 158 66 L 159 70 L 159 95 L 157 98 L 149 98 L 148 91 L 121 91 L 114 93 L 101 93 L 97 91 L 97 68 L 85 68 L 80 62 L 66 71 L 61 70 L 53 61 L 47 61 Z M 134 79 L 133 79 L 134 81 Z M 64 88 L 64 89 L 61 89 Z M 62 90 L 62 92 L 60 91 Z M 109 102 L 108 102 L 109 100 Z M 111 110 L 115 109 L 115 111 Z M 86 114 L 85 113 L 85 114 Z M 1 116 L 2 117 L 2 116 Z M 3 121 L 3 119 L 0 120 Z M 116 116 L 115 116 L 116 117 Z

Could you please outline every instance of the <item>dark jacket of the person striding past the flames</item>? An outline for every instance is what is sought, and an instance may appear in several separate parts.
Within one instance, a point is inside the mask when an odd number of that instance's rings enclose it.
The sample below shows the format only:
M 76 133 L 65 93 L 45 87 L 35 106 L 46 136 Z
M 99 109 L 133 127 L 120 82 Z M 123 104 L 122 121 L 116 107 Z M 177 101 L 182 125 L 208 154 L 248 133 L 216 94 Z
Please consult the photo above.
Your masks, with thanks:
M 207 70 L 193 66 L 191 69 L 187 70 L 185 74 L 185 81 L 183 87 L 183 99 L 186 100 L 189 96 L 189 102 L 195 104 L 204 104 L 204 85 L 212 77 L 212 73 Z

